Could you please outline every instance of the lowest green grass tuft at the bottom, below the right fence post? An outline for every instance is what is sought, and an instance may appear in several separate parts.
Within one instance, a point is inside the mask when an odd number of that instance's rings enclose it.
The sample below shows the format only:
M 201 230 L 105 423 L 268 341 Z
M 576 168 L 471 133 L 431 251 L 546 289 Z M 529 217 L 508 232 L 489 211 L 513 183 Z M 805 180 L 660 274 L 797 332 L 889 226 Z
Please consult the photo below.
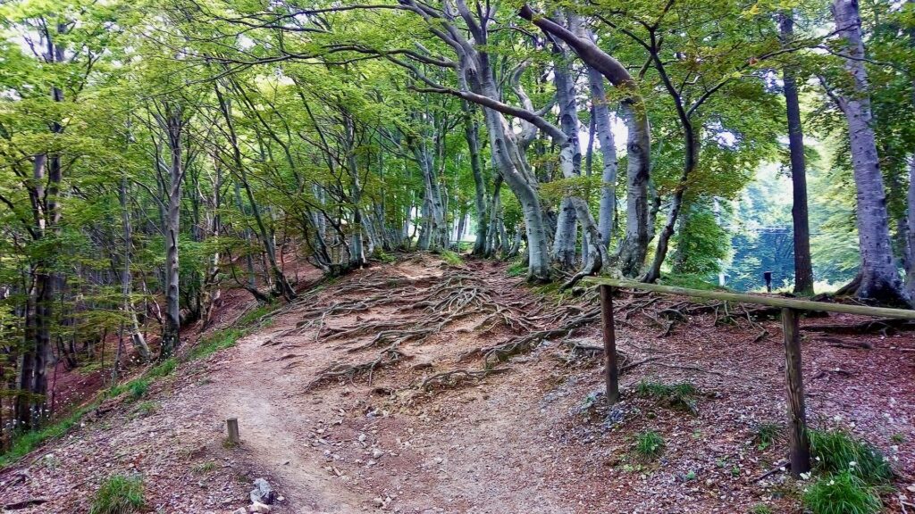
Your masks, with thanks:
M 877 514 L 883 509 L 874 487 L 847 469 L 807 487 L 803 506 L 813 514 Z

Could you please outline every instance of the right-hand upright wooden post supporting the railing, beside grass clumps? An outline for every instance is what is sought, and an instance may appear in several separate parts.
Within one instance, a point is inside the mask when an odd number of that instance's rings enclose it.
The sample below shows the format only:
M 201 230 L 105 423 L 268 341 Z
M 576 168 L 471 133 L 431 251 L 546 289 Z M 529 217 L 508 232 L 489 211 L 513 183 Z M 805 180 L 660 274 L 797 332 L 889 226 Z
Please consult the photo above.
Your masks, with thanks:
M 781 329 L 785 339 L 785 381 L 788 386 L 789 461 L 795 477 L 810 471 L 810 440 L 807 437 L 807 413 L 804 409 L 801 371 L 801 331 L 797 311 L 781 309 Z

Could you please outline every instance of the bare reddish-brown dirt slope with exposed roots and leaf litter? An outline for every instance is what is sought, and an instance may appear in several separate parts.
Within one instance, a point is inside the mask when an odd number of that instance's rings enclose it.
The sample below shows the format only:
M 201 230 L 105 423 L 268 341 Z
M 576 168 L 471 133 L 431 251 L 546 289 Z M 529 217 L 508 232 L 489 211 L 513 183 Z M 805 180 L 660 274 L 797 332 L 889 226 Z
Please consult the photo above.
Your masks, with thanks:
M 220 327 L 247 308 L 235 293 Z M 139 473 L 149 512 L 232 512 L 256 477 L 280 513 L 800 512 L 803 483 L 757 479 L 786 453 L 756 437 L 786 418 L 779 323 L 676 298 L 615 303 L 625 372 L 608 412 L 593 294 L 560 301 L 498 262 L 373 265 L 182 364 L 145 402 L 103 402 L 0 472 L 0 505 L 87 512 L 104 477 Z M 888 455 L 901 478 L 884 500 L 902 512 L 915 497 L 915 335 L 814 327 L 862 321 L 802 320 L 809 418 Z M 467 373 L 443 375 L 454 370 Z M 642 380 L 693 383 L 694 410 L 640 397 Z M 224 444 L 228 417 L 240 446 Z M 646 430 L 666 443 L 651 460 L 633 449 Z

